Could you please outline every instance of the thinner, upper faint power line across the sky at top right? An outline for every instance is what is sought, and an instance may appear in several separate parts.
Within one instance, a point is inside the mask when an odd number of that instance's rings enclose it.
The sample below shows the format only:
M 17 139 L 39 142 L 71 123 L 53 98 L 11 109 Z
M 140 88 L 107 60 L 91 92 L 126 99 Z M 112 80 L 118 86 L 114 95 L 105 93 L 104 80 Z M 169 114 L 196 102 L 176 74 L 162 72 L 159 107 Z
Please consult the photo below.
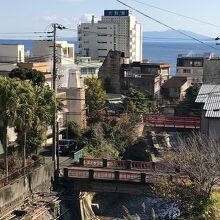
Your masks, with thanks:
M 174 14 L 174 15 L 177 15 L 177 16 L 180 16 L 180 17 L 183 17 L 183 18 L 187 18 L 187 19 L 190 19 L 190 20 L 192 20 L 192 21 L 200 22 L 200 23 L 202 23 L 202 24 L 206 24 L 206 25 L 210 25 L 210 26 L 213 26 L 213 27 L 220 28 L 219 25 L 216 25 L 216 24 L 213 24 L 213 23 L 204 21 L 204 20 L 200 20 L 200 19 L 198 19 L 198 18 L 193 18 L 193 17 L 190 17 L 190 16 L 186 16 L 186 15 L 183 15 L 183 14 L 180 14 L 180 13 L 177 13 L 177 12 L 174 12 L 174 11 L 170 11 L 170 10 L 167 10 L 167 9 L 164 9 L 164 8 L 160 8 L 160 7 L 157 7 L 157 6 L 155 6 L 155 5 L 151 5 L 151 4 L 149 4 L 149 3 L 141 2 L 141 1 L 138 1 L 138 0 L 130 0 L 130 1 L 133 1 L 133 2 L 136 2 L 136 3 L 139 3 L 139 4 L 142 4 L 142 5 L 146 5 L 146 6 L 151 7 L 151 8 L 158 9 L 158 10 L 160 10 L 160 11 L 168 12 L 168 13 L 170 13 L 170 14 Z

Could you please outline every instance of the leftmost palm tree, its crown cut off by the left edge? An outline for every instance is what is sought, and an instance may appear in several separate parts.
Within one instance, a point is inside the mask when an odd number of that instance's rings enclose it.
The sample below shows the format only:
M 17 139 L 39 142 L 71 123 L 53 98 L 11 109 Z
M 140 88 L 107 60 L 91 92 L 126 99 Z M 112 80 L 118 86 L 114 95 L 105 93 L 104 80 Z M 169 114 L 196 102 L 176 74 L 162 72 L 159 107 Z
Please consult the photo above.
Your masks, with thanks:
M 18 93 L 16 91 L 18 81 L 6 77 L 0 77 L 0 121 L 2 122 L 3 130 L 3 147 L 4 147 L 4 164 L 5 173 L 8 177 L 8 138 L 7 127 L 13 125 L 17 108 L 19 105 Z

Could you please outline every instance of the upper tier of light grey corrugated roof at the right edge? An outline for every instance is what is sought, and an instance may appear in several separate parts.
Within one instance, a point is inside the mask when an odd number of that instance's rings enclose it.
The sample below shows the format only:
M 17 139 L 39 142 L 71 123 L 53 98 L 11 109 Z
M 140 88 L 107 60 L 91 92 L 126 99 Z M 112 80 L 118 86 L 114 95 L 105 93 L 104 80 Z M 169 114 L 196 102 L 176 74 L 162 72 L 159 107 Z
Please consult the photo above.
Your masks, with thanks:
M 197 103 L 205 103 L 207 98 L 215 93 L 220 92 L 220 85 L 207 85 L 204 84 L 201 86 L 199 90 L 199 94 L 196 97 L 195 102 Z

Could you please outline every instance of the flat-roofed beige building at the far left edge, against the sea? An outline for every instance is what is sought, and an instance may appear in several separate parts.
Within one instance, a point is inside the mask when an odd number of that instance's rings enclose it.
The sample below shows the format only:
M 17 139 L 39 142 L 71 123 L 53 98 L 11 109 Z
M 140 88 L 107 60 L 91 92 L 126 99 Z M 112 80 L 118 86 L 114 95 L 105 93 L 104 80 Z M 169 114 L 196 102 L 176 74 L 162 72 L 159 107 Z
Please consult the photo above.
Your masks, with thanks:
M 0 44 L 1 63 L 24 62 L 24 45 Z

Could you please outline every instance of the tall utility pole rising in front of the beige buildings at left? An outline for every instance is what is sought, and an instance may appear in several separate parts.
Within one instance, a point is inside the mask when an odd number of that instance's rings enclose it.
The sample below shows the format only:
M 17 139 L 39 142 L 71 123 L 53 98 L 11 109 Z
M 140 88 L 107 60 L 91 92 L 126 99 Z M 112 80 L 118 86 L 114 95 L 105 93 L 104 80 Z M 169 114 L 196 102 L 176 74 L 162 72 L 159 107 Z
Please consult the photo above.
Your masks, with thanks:
M 56 48 L 56 28 L 57 24 L 52 24 L 53 26 L 53 90 L 55 96 L 57 95 L 57 48 Z M 55 99 L 55 110 L 53 115 L 53 164 L 54 164 L 54 174 L 57 170 L 57 101 Z

